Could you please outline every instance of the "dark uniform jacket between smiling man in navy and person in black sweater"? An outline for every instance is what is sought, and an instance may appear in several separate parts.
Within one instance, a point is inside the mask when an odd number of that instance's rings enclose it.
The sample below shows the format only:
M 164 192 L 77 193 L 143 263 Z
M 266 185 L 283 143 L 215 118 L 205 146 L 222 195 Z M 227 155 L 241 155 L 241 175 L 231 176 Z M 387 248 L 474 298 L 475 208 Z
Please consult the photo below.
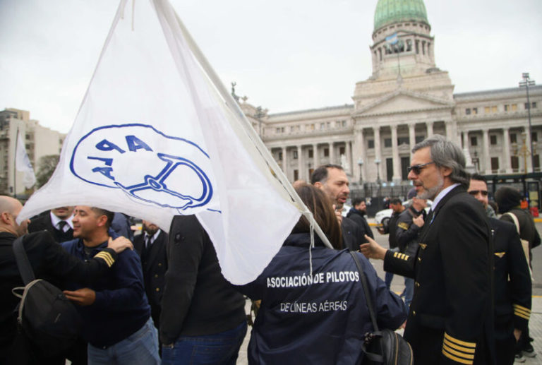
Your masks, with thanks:
M 133 248 L 141 258 L 143 268 L 143 283 L 149 299 L 152 321 L 159 327 L 160 311 L 162 309 L 162 294 L 166 284 L 167 245 L 168 235 L 160 229 L 158 237 L 145 249 L 145 234 L 139 234 L 133 239 Z

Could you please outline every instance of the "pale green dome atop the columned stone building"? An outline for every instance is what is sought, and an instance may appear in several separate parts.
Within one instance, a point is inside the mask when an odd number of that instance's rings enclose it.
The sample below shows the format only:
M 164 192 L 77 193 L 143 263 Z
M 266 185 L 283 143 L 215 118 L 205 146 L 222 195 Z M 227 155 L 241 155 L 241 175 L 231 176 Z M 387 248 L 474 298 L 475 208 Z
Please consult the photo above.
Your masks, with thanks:
M 401 21 L 416 20 L 429 24 L 423 0 L 378 0 L 375 29 Z

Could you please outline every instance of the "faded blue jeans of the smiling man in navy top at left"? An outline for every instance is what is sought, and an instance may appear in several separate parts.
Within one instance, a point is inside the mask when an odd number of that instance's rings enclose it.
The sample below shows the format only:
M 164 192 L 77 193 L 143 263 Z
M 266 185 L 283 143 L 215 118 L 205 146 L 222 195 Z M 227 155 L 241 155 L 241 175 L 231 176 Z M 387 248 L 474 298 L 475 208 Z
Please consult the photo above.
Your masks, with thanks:
M 106 329 L 104 329 L 106 330 Z M 132 335 L 106 349 L 88 344 L 88 365 L 160 364 L 158 332 L 152 318 Z

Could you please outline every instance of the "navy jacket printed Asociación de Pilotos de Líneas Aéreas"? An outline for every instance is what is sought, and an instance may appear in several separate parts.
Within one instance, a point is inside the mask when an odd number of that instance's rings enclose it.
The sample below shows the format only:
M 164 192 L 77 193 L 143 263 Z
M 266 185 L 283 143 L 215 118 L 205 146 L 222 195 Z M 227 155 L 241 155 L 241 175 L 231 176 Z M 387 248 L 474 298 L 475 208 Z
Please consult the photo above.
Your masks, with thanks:
M 310 237 L 291 234 L 254 282 L 239 290 L 262 299 L 248 345 L 249 364 L 361 364 L 363 335 L 373 330 L 359 272 L 347 249 L 327 249 L 315 237 L 309 285 Z M 404 304 L 373 265 L 356 253 L 380 328 L 399 328 Z

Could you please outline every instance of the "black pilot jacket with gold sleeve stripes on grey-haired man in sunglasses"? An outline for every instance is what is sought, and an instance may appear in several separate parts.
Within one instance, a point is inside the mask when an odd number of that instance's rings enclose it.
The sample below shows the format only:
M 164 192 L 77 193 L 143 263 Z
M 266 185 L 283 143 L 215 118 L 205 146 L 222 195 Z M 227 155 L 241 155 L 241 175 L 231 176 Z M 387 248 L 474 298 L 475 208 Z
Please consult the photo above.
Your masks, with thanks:
M 493 244 L 486 212 L 456 186 L 429 213 L 414 256 L 387 251 L 384 270 L 414 277 L 404 338 L 414 364 L 494 364 Z

